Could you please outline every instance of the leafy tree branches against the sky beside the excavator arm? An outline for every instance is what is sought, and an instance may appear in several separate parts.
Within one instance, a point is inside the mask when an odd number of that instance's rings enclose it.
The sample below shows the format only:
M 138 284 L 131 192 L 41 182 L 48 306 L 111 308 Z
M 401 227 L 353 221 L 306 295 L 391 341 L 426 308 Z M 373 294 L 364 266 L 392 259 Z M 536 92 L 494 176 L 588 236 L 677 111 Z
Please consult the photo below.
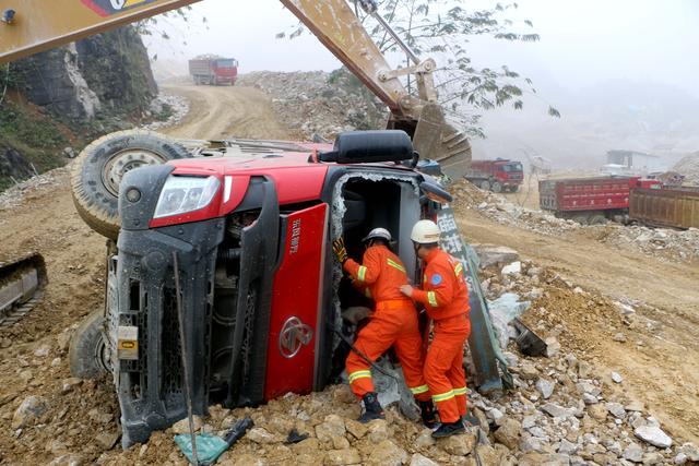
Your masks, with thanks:
M 484 136 L 479 126 L 483 111 L 508 105 L 520 110 L 525 95 L 537 96 L 530 79 L 507 65 L 478 68 L 469 52 L 475 36 L 518 43 L 540 40 L 531 21 L 510 19 L 518 8 L 513 2 L 469 10 L 459 0 L 381 0 L 377 12 L 418 58 L 431 57 L 437 61 L 439 68 L 434 76 L 439 103 L 471 135 Z M 383 27 L 360 9 L 355 11 L 379 49 L 387 57 L 403 61 L 403 51 Z M 294 38 L 303 32 L 303 25 L 298 24 L 291 33 L 281 33 L 277 37 Z M 410 64 L 410 60 L 406 62 Z M 407 80 L 404 84 L 408 92 L 417 92 Z M 550 105 L 548 115 L 560 117 Z

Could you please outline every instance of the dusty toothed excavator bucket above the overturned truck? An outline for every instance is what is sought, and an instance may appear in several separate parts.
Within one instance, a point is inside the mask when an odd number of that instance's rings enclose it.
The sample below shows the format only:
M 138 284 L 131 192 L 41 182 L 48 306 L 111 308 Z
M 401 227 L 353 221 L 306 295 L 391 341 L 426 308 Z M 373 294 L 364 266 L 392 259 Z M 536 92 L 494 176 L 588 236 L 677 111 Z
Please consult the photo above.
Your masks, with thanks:
M 453 180 L 471 168 L 471 142 L 445 119 L 438 104 L 426 104 L 413 134 L 413 146 L 422 158 L 439 162 L 445 175 Z

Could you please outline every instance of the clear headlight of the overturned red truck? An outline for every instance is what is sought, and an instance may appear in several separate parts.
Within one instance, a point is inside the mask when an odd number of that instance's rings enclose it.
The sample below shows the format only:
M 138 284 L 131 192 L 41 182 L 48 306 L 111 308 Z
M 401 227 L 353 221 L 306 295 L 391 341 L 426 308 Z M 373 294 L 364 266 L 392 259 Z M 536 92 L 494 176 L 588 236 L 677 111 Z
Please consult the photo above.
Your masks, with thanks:
M 205 207 L 214 199 L 218 184 L 216 177 L 170 175 L 163 186 L 153 217 L 169 217 Z

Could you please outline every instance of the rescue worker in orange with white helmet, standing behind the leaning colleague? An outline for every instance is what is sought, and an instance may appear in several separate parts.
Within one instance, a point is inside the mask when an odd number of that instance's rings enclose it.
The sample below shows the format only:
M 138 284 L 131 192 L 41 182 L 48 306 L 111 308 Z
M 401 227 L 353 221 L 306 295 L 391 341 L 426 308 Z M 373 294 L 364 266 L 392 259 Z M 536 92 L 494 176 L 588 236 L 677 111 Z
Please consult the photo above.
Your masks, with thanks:
M 440 230 L 431 220 L 419 220 L 411 239 L 425 261 L 423 289 L 402 285 L 401 291 L 425 306 L 434 321 L 434 337 L 425 358 L 425 381 L 437 406 L 441 426 L 433 437 L 464 431 L 466 377 L 463 345 L 471 333 L 469 289 L 463 265 L 439 248 Z

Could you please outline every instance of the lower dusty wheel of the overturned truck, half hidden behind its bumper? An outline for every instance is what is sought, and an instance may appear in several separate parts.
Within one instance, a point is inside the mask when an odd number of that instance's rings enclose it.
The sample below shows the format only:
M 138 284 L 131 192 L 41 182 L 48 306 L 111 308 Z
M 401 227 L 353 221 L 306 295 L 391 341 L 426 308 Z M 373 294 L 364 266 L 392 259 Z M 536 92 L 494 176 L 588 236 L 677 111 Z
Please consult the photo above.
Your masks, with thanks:
M 85 318 L 73 334 L 68 350 L 70 373 L 73 377 L 96 379 L 110 372 L 111 365 L 102 334 L 103 324 L 103 312 L 95 311 Z

